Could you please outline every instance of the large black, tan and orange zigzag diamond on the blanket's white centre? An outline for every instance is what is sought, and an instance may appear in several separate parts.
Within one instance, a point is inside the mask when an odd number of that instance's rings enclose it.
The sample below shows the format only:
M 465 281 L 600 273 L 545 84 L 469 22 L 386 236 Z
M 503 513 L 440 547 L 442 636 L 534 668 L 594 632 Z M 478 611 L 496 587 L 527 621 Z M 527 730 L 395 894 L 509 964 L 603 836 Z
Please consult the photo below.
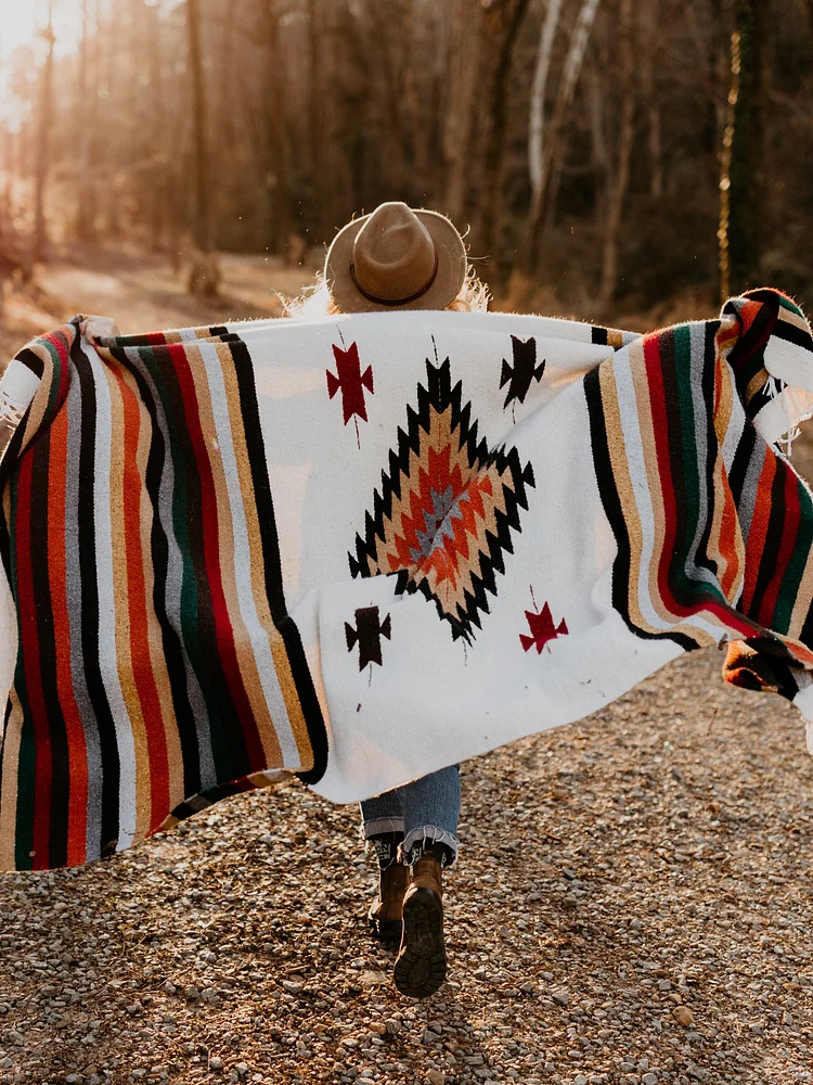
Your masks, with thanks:
M 426 359 L 426 386 L 406 411 L 389 473 L 373 496 L 365 533 L 348 554 L 353 576 L 397 573 L 398 590 L 433 599 L 456 639 L 470 641 L 496 596 L 496 574 L 513 553 L 534 485 L 530 463 L 515 448 L 489 449 L 478 439 L 463 384 L 452 387 L 449 358 Z

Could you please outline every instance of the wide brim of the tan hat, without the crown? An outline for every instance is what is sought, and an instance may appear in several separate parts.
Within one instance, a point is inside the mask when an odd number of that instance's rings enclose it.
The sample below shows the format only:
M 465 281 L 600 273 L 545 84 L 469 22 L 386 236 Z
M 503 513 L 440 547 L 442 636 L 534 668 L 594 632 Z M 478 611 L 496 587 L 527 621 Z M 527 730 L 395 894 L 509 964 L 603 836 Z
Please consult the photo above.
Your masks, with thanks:
M 350 263 L 353 242 L 370 215 L 343 227 L 327 250 L 324 278 L 331 297 L 343 312 L 392 312 L 400 309 L 446 309 L 460 294 L 466 280 L 466 246 L 454 226 L 436 210 L 416 209 L 435 245 L 438 270 L 431 285 L 420 297 L 397 304 L 377 303 L 365 297 L 353 281 Z

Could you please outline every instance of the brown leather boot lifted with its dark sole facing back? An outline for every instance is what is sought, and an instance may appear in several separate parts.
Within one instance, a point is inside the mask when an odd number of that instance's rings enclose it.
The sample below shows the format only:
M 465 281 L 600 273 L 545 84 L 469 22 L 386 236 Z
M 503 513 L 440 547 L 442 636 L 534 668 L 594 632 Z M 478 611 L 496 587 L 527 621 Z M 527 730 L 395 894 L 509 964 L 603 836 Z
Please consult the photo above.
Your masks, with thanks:
M 403 937 L 393 980 L 402 995 L 428 998 L 446 980 L 442 868 L 424 854 L 412 867 L 403 898 Z

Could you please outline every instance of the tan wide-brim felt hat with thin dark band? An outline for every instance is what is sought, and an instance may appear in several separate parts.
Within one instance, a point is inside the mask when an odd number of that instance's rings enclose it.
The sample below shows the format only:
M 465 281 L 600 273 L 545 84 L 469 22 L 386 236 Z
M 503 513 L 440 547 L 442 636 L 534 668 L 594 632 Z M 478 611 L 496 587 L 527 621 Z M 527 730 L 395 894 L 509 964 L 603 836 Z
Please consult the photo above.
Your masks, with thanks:
M 444 215 L 391 202 L 339 230 L 324 278 L 343 312 L 444 309 L 466 267 L 466 246 Z

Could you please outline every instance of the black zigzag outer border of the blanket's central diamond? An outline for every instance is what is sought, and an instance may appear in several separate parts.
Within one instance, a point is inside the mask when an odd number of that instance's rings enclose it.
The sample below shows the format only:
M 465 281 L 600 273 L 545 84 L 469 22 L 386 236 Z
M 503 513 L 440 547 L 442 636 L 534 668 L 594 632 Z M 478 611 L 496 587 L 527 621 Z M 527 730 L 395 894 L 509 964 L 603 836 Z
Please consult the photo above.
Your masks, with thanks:
M 528 509 L 527 490 L 534 486 L 534 478 L 531 464 L 520 462 L 516 448 L 489 449 L 487 439 L 479 437 L 478 422 L 472 420 L 472 404 L 463 403 L 463 382 L 452 385 L 449 358 L 439 366 L 426 359 L 426 386 L 417 386 L 417 408 L 406 409 L 406 427 L 398 430 L 397 449 L 389 454 L 389 470 L 382 472 L 380 490 L 373 494 L 373 511 L 365 514 L 364 535 L 356 536 L 356 553 L 349 553 L 348 560 L 354 577 L 370 576 L 377 570 L 379 545 L 386 541 L 385 522 L 392 519 L 393 501 L 401 500 L 401 483 L 409 477 L 411 454 L 421 459 L 422 446 L 430 434 L 433 412 L 450 412 L 451 437 L 457 442 L 456 451 L 465 450 L 468 480 L 492 465 L 496 468 L 504 511 L 494 509 L 495 531 L 486 531 L 482 540 L 469 536 L 469 544 L 478 549 L 479 561 L 469 564 L 472 591 L 464 592 L 465 602 L 459 603 L 454 613 L 443 608 L 425 578 L 413 579 L 409 569 L 396 574 L 397 590 L 421 591 L 434 600 L 440 617 L 450 623 L 454 639 L 463 637 L 470 641 L 474 629 L 481 628 L 480 615 L 489 613 L 488 595 L 496 596 L 496 573 L 505 573 L 504 553 L 514 552 L 511 533 L 521 531 L 519 513 Z M 475 571 L 477 565 L 479 575 Z

